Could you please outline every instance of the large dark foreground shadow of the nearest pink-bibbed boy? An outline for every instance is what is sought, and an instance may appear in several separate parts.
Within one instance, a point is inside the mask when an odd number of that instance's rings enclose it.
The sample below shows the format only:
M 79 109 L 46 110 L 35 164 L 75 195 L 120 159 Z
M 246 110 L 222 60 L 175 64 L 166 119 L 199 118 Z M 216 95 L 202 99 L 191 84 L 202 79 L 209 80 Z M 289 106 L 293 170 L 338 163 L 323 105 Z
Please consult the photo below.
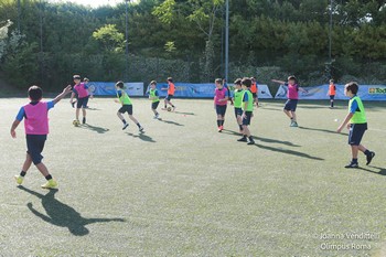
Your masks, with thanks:
M 55 226 L 67 227 L 71 234 L 75 236 L 85 236 L 89 233 L 87 229 L 88 224 L 101 223 L 101 222 L 125 222 L 124 218 L 86 218 L 82 217 L 81 213 L 76 212 L 72 206 L 62 203 L 55 199 L 55 193 L 58 190 L 50 190 L 46 194 L 41 194 L 22 185 L 18 186 L 37 199 L 42 200 L 42 205 L 45 210 L 45 214 L 35 210 L 32 203 L 28 203 L 29 210 L 42 218 L 44 222 L 51 223 Z

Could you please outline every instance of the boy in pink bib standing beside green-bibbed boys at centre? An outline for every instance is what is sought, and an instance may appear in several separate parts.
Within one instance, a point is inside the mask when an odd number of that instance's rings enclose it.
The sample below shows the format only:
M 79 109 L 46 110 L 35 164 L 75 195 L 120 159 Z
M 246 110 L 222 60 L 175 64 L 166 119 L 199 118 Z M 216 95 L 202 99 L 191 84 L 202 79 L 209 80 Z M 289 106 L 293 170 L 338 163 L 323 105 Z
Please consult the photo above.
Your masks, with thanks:
M 228 101 L 227 89 L 223 85 L 223 79 L 216 78 L 216 89 L 214 90 L 214 105 L 217 114 L 217 129 L 222 132 L 224 129 L 224 120 L 226 113 L 226 104 Z

